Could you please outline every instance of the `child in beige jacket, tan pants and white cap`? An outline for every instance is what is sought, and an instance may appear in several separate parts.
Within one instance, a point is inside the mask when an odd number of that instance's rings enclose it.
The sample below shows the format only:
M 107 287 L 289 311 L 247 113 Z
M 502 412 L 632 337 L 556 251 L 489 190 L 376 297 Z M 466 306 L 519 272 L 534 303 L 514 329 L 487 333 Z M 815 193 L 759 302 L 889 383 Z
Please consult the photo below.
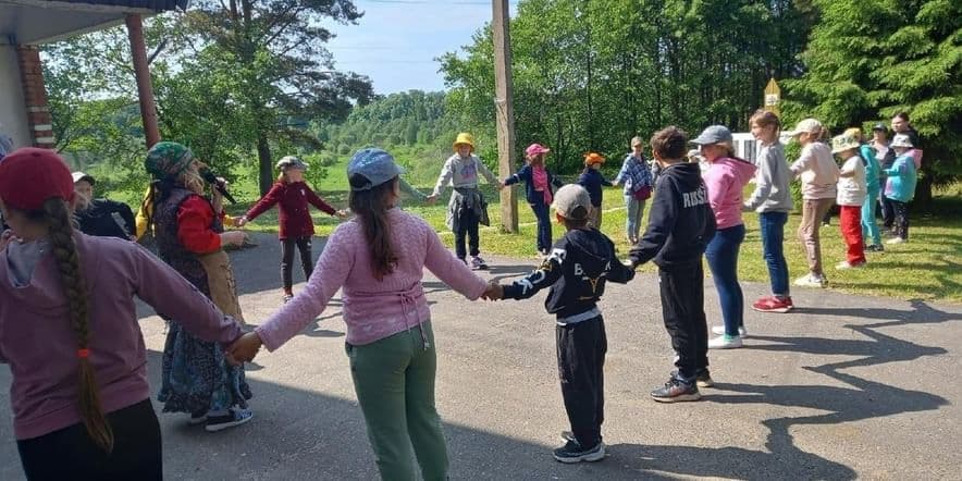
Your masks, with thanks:
M 800 287 L 827 287 L 828 279 L 822 269 L 822 239 L 818 230 L 822 219 L 835 205 L 838 183 L 838 166 L 831 159 L 831 149 L 819 141 L 827 135 L 822 123 L 805 119 L 790 132 L 802 146 L 802 153 L 791 164 L 792 176 L 802 180 L 802 222 L 799 224 L 799 240 L 809 260 L 809 273 L 797 279 Z

